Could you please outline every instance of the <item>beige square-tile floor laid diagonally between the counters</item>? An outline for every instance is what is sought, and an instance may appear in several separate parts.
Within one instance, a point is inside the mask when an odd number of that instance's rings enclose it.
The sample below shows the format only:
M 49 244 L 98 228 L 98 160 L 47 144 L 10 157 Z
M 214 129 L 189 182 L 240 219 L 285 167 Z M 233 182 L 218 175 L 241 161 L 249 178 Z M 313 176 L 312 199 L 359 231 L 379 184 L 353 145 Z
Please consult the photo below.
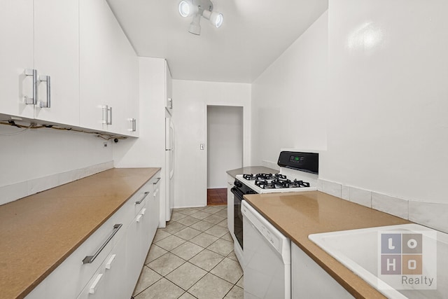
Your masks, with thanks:
M 243 297 L 227 206 L 174 209 L 155 235 L 132 298 Z

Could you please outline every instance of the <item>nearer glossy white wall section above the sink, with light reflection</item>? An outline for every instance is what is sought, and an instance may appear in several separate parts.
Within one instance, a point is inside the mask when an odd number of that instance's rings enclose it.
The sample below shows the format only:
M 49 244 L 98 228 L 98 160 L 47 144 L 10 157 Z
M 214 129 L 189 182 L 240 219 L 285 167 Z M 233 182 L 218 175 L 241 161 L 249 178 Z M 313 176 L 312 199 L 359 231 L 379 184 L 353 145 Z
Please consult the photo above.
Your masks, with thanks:
M 444 0 L 330 1 L 328 106 L 337 113 L 320 174 L 391 195 L 395 208 L 405 199 L 409 219 L 444 230 L 447 10 Z

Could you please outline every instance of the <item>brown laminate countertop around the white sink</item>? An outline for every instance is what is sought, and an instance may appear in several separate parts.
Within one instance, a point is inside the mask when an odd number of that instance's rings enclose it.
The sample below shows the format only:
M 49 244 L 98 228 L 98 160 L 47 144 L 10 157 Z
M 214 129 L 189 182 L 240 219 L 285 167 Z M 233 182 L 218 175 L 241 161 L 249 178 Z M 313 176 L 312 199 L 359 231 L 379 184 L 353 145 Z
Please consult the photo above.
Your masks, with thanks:
M 409 221 L 319 191 L 244 195 L 244 198 L 355 298 L 384 298 L 367 282 L 311 242 L 308 235 Z

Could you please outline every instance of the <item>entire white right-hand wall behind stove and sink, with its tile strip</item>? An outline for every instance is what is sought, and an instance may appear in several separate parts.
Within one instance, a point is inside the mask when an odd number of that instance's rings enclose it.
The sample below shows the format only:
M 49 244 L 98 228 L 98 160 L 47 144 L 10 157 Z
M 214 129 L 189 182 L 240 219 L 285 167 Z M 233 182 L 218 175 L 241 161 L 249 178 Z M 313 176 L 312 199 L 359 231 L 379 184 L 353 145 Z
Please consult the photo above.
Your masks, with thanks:
M 447 8 L 442 0 L 330 1 L 253 84 L 253 164 L 283 147 L 320 149 L 319 190 L 448 232 Z M 269 112 L 269 99 L 307 115 Z M 315 135 L 267 141 L 269 116 Z

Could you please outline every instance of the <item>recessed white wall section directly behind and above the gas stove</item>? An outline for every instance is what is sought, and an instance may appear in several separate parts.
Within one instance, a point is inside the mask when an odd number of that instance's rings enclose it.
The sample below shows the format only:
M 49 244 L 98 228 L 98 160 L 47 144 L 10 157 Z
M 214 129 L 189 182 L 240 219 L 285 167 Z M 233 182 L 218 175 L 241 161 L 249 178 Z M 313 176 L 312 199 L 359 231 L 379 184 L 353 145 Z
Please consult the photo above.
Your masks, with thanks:
M 252 85 L 252 165 L 276 163 L 280 148 L 324 150 L 327 13 Z

